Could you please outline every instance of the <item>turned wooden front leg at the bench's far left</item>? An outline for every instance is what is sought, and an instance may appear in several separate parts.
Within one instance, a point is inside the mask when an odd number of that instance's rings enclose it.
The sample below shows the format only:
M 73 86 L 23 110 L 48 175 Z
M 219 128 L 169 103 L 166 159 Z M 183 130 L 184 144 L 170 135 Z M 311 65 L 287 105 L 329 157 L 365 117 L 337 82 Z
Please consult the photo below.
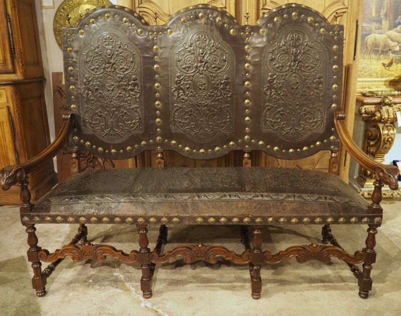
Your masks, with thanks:
M 46 275 L 42 273 L 42 263 L 38 258 L 38 252 L 41 251 L 41 247 L 38 247 L 38 237 L 36 236 L 35 224 L 26 225 L 26 232 L 28 233 L 28 261 L 32 262 L 32 269 L 34 270 L 34 276 L 32 278 L 32 286 L 36 290 L 36 295 L 41 297 L 46 295 Z

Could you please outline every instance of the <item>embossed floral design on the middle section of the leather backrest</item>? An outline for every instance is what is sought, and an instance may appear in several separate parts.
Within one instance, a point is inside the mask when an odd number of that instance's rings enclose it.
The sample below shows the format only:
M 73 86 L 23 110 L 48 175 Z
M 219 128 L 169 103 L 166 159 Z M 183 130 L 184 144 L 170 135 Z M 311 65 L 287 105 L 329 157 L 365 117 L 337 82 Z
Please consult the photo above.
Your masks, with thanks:
M 171 129 L 193 141 L 233 131 L 234 55 L 211 28 L 189 30 L 170 53 Z

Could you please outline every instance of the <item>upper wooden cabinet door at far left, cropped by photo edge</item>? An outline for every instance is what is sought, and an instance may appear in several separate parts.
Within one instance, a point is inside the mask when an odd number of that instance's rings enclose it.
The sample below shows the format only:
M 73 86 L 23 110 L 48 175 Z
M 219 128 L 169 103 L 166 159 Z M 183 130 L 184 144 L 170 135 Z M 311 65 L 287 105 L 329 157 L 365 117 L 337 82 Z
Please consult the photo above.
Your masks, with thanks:
M 0 0 L 0 73 L 14 72 L 6 0 Z

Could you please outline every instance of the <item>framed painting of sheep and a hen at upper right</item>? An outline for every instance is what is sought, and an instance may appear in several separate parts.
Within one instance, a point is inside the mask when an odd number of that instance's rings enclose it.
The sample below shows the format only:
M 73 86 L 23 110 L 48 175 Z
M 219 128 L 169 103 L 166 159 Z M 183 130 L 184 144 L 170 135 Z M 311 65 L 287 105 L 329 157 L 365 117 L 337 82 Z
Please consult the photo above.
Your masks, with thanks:
M 358 91 L 401 91 L 401 0 L 364 0 Z

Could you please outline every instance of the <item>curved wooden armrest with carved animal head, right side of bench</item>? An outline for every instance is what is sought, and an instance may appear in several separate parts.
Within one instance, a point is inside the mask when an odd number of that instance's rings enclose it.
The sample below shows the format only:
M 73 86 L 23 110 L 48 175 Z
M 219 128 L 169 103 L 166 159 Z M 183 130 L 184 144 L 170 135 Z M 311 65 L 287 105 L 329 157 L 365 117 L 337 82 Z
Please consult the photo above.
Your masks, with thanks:
M 358 145 L 353 141 L 345 126 L 345 113 L 335 112 L 334 123 L 340 136 L 341 143 L 349 154 L 365 169 L 369 170 L 375 179 L 388 185 L 391 190 L 398 189 L 399 170 L 393 165 L 382 165 L 371 159 Z

